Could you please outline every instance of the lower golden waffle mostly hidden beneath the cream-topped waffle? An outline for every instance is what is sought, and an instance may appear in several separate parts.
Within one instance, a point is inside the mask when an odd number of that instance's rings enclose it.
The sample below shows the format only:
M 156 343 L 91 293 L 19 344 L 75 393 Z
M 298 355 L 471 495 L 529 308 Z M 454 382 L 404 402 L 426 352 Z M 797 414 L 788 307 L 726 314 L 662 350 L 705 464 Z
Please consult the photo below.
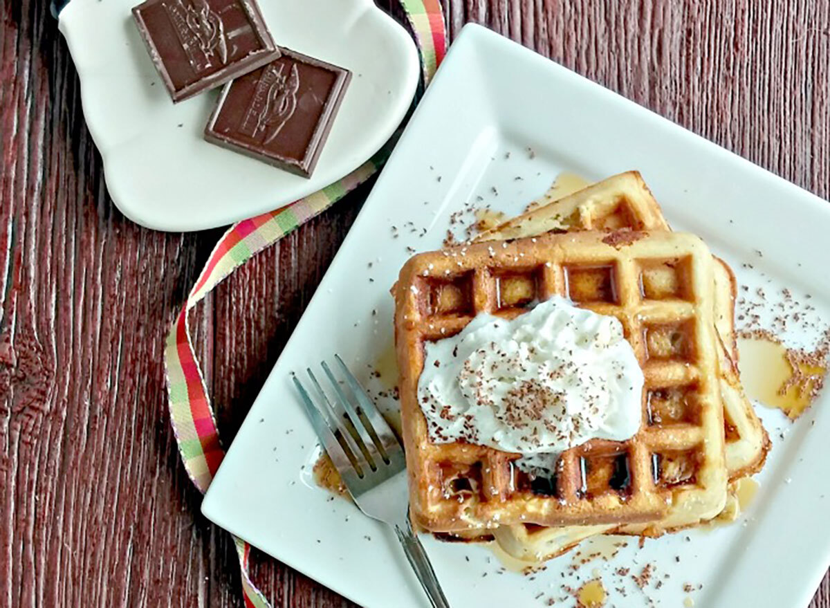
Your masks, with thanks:
M 550 194 L 542 200 L 550 200 Z M 563 199 L 537 207 L 532 212 L 501 224 L 476 241 L 511 237 L 534 237 L 548 231 L 632 228 L 669 229 L 657 200 L 636 171 L 615 175 Z M 720 395 L 724 404 L 725 461 L 730 481 L 757 472 L 769 450 L 769 437 L 740 386 L 735 340 L 735 276 L 720 258 L 715 258 L 714 315 L 719 339 Z M 657 278 L 657 277 L 655 277 Z M 654 286 L 652 286 L 653 288 Z M 730 493 L 725 512 L 735 512 L 736 498 Z M 723 517 L 721 515 L 721 517 Z M 685 526 L 677 515 L 673 522 Z M 652 535 L 666 530 L 666 524 L 652 524 Z M 614 526 L 503 526 L 494 531 L 496 541 L 510 555 L 528 561 L 555 557 L 587 537 L 612 531 Z M 617 532 L 623 532 L 618 530 Z M 633 529 L 631 532 L 643 532 Z

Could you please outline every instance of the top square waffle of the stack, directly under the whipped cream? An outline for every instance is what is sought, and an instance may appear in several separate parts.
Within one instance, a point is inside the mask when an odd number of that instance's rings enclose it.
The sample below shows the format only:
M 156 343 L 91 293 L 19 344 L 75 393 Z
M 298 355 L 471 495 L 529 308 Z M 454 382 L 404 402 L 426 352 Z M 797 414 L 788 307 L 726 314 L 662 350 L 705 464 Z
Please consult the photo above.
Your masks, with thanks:
M 676 261 L 675 292 L 643 297 L 643 272 L 667 260 Z M 619 526 L 662 519 L 670 506 L 714 517 L 727 479 L 713 289 L 706 245 L 665 230 L 551 233 L 411 258 L 393 294 L 413 524 L 430 532 Z M 519 454 L 433 444 L 417 404 L 423 343 L 456 334 L 478 313 L 513 318 L 557 294 L 622 322 L 646 379 L 640 431 L 565 451 L 546 480 L 520 472 Z M 668 393 L 682 395 L 681 415 L 658 421 L 650 403 Z

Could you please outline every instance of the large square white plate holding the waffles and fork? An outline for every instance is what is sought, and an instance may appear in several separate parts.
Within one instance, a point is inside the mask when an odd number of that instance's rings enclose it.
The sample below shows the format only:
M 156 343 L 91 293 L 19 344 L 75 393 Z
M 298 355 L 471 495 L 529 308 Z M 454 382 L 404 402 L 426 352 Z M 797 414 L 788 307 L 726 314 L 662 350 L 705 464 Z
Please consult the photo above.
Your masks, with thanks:
M 362 606 L 426 606 L 393 534 L 311 480 L 319 451 L 289 372 L 336 351 L 369 382 L 367 364 L 384 360 L 392 343 L 388 288 L 407 248 L 439 247 L 450 214 L 466 203 L 518 213 L 562 170 L 602 179 L 626 169 L 640 169 L 672 225 L 706 238 L 740 283 L 763 285 L 770 294 L 786 286 L 796 298 L 808 289 L 815 314 L 830 318 L 830 276 L 811 263 L 828 257 L 828 203 L 505 38 L 467 26 L 252 406 L 203 513 Z M 741 266 L 747 261 L 753 268 Z M 795 330 L 786 337 L 810 340 Z M 498 576 L 500 563 L 485 547 L 425 538 L 452 606 L 547 606 L 563 595 L 563 582 L 579 586 L 594 568 L 611 593 L 608 606 L 645 606 L 646 594 L 630 576 L 618 583 L 610 573 L 626 566 L 636 574 L 649 562 L 656 572 L 647 595 L 656 606 L 683 606 L 687 597 L 695 606 L 807 606 L 830 561 L 828 397 L 795 424 L 760 409 L 774 448 L 758 476 L 759 494 L 733 525 L 663 537 L 642 549 L 632 541 L 610 562 L 592 561 L 575 572 L 571 557 L 563 557 L 533 578 Z M 396 407 L 389 400 L 382 405 Z M 693 591 L 684 590 L 686 583 Z M 613 591 L 618 585 L 627 599 Z

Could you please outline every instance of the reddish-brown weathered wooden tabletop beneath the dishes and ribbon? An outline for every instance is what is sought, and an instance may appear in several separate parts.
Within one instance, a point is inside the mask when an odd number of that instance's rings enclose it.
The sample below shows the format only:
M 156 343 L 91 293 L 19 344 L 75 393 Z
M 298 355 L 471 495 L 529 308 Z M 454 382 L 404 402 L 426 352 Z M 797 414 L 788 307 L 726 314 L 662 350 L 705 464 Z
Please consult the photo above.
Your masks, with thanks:
M 395 12 L 394 0 L 378 3 Z M 830 194 L 827 0 L 445 7 L 451 37 L 484 23 Z M 199 515 L 179 462 L 162 366 L 164 335 L 222 231 L 152 232 L 114 207 L 46 0 L 4 0 L 0 70 L 0 606 L 243 606 L 230 537 Z M 198 311 L 226 441 L 371 185 Z M 351 606 L 268 557 L 253 564 L 275 606 Z M 830 608 L 830 578 L 811 606 Z

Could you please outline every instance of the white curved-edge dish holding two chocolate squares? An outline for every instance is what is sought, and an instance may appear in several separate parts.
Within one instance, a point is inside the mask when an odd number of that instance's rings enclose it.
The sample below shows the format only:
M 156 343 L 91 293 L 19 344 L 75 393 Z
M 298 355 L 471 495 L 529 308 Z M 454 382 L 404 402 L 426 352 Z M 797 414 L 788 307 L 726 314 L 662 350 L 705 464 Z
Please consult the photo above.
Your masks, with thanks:
M 415 93 L 413 41 L 372 0 L 259 2 L 278 45 L 354 73 L 315 172 L 305 179 L 203 140 L 218 90 L 173 105 L 133 22 L 136 4 L 71 0 L 60 29 L 110 196 L 149 228 L 221 226 L 333 184 L 380 149 Z

